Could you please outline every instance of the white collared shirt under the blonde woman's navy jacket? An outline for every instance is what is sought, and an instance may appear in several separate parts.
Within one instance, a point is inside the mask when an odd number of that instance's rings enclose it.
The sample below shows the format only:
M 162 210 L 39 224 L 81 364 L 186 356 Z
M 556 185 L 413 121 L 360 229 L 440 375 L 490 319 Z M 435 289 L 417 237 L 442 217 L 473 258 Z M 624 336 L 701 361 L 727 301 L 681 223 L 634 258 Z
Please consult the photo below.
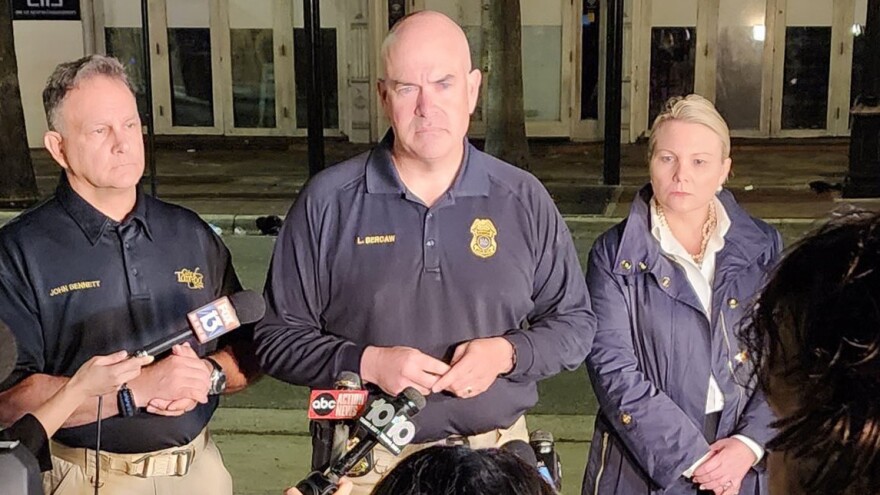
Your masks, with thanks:
M 656 200 L 651 198 L 650 203 L 651 235 L 660 243 L 660 250 L 671 256 L 672 259 L 684 269 L 688 282 L 691 284 L 691 287 L 693 287 L 697 298 L 700 300 L 700 304 L 703 306 L 703 311 L 706 313 L 706 318 L 709 321 L 712 321 L 712 283 L 715 280 L 715 257 L 718 252 L 724 248 L 724 236 L 727 235 L 727 231 L 730 230 L 730 217 L 727 216 L 727 211 L 724 209 L 724 205 L 721 204 L 721 201 L 719 201 L 717 197 L 714 198 L 713 201 L 715 201 L 715 218 L 717 224 L 711 237 L 709 237 L 709 241 L 706 243 L 706 252 L 703 255 L 702 265 L 697 265 L 687 249 L 685 249 L 672 234 L 669 226 L 667 226 L 665 222 L 660 221 L 660 215 L 657 213 Z M 724 410 L 724 393 L 718 386 L 718 382 L 715 380 L 715 375 L 711 372 L 709 373 L 708 387 L 708 393 L 706 394 L 707 415 Z M 751 438 L 743 435 L 734 435 L 733 438 L 746 444 L 746 446 L 754 452 L 758 461 L 764 456 L 764 449 Z M 690 478 L 700 464 L 708 458 L 709 454 L 706 454 L 703 458 L 698 460 L 690 469 L 685 471 L 685 477 Z

